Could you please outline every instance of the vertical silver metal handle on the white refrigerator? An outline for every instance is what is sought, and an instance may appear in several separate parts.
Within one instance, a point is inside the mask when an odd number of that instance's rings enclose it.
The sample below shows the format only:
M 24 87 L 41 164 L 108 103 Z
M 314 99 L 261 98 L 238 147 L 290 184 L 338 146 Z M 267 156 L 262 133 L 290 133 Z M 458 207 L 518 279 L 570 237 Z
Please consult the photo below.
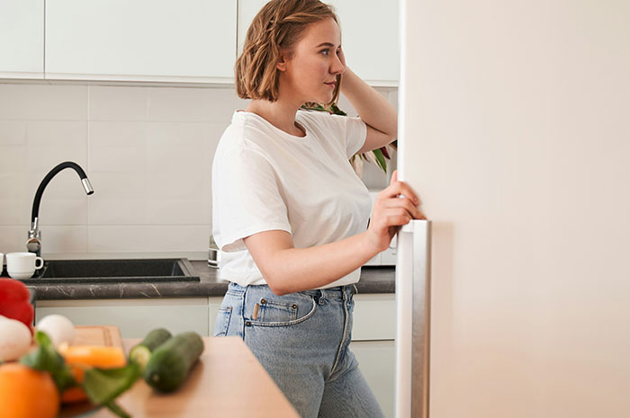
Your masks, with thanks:
M 402 227 L 397 247 L 396 418 L 428 418 L 431 221 Z

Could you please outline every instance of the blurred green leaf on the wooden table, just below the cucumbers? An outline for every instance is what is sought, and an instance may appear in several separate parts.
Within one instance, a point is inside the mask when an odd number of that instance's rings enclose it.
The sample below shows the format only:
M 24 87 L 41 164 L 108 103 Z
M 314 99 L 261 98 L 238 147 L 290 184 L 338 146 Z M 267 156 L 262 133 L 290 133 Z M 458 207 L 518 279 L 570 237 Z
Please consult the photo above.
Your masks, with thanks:
M 134 361 L 117 369 L 87 369 L 83 386 L 94 404 L 107 405 L 132 387 L 139 375 L 139 365 Z

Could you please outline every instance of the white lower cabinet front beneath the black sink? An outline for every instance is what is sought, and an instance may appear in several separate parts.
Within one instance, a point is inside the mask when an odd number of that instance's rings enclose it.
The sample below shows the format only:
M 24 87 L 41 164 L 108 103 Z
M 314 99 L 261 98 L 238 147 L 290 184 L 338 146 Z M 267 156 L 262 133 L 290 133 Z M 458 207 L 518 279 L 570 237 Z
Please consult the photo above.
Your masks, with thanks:
M 122 338 L 142 338 L 160 327 L 208 335 L 208 298 L 38 300 L 35 323 L 50 314 L 75 325 L 116 325 Z

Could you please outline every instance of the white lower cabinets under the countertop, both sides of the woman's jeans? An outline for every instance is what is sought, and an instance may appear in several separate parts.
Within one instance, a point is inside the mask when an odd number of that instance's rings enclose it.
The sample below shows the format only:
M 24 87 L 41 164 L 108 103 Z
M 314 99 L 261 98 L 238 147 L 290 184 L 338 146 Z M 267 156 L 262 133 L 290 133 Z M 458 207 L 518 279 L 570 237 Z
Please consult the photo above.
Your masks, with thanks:
M 211 335 L 222 297 L 39 300 L 35 322 L 60 314 L 75 325 L 116 325 L 123 338 L 142 338 L 154 328 L 173 334 Z M 394 294 L 355 295 L 350 350 L 386 417 L 394 414 Z

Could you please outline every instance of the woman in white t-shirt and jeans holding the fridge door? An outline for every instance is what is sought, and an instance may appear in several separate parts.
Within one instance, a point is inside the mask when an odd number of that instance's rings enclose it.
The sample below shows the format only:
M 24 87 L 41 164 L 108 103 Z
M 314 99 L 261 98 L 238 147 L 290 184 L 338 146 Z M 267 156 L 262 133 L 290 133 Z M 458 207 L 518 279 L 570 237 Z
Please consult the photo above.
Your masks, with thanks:
M 425 217 L 394 173 L 368 227 L 370 195 L 348 158 L 392 142 L 396 111 L 347 68 L 337 16 L 317 0 L 263 7 L 236 85 L 251 102 L 212 165 L 212 232 L 229 280 L 214 335 L 242 338 L 303 417 L 381 417 L 348 350 L 353 284 L 402 225 Z M 360 118 L 300 110 L 339 92 Z

